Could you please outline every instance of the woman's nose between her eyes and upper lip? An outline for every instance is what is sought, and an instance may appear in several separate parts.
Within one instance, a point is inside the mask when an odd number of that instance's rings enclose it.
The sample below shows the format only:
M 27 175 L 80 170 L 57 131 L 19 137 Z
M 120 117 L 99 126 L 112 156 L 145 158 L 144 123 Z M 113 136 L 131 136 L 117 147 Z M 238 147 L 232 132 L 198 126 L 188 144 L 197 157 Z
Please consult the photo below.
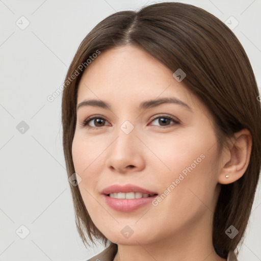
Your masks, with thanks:
M 117 132 L 117 138 L 108 150 L 107 166 L 111 171 L 124 174 L 141 171 L 145 167 L 143 151 L 146 146 L 136 135 L 135 129 L 129 134 L 121 129 Z

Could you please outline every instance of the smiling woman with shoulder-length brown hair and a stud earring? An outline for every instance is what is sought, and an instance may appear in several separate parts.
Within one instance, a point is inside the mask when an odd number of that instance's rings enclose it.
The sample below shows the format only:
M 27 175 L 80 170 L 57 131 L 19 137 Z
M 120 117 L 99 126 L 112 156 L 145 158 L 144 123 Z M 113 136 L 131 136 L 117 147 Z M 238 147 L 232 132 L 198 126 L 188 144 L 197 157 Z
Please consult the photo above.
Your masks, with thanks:
M 77 229 L 110 243 L 89 260 L 237 260 L 261 111 L 226 25 L 181 3 L 114 13 L 82 41 L 64 87 Z

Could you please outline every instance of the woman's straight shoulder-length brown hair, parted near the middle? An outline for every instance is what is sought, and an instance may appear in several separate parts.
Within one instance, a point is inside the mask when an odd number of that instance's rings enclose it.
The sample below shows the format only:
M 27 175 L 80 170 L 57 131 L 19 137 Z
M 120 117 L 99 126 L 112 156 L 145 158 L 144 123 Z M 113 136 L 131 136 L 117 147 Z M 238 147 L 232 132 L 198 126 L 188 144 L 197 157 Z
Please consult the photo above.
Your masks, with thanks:
M 243 239 L 260 171 L 261 110 L 255 76 L 244 48 L 230 29 L 205 10 L 181 3 L 158 3 L 139 11 L 121 11 L 99 22 L 85 37 L 68 69 L 62 97 L 63 147 L 68 177 L 75 170 L 72 141 L 76 124 L 77 87 L 84 70 L 80 65 L 97 53 L 131 44 L 142 48 L 173 72 L 181 68 L 182 81 L 210 110 L 215 120 L 219 152 L 227 138 L 243 128 L 252 136 L 250 162 L 244 175 L 221 191 L 214 213 L 213 245 L 218 255 L 227 258 Z M 81 72 L 80 72 L 81 71 Z M 73 81 L 69 81 L 71 75 Z M 93 224 L 79 187 L 70 186 L 75 222 L 88 244 L 86 233 L 108 242 Z M 225 230 L 233 225 L 239 234 L 230 239 Z M 117 250 L 117 245 L 110 247 Z M 236 253 L 238 254 L 238 252 Z

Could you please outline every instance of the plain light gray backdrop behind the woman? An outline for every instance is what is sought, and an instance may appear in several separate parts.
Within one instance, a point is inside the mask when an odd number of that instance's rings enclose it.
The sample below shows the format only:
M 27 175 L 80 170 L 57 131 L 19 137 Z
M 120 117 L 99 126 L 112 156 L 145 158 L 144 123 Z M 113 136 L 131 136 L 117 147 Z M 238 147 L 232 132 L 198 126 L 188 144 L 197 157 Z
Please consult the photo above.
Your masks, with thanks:
M 47 96 L 62 85 L 77 47 L 99 21 L 156 2 L 0 1 L 0 260 L 86 260 L 103 249 L 86 249 L 77 234 L 62 149 L 62 95 L 53 102 Z M 232 31 L 260 87 L 261 1 L 180 2 L 223 22 L 239 21 Z M 257 190 L 241 261 L 261 260 L 260 183 Z

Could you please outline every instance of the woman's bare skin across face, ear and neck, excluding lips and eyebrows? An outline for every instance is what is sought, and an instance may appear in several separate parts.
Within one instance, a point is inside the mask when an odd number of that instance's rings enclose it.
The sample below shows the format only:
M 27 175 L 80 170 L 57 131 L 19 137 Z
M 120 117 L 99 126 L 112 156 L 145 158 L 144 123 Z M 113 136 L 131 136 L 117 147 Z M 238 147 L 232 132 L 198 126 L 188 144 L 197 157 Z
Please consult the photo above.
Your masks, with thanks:
M 88 106 L 77 111 L 72 156 L 92 221 L 118 244 L 115 261 L 195 261 L 195 256 L 196 260 L 225 260 L 212 244 L 214 209 L 220 184 L 244 174 L 251 135 L 246 129 L 237 133 L 237 146 L 232 140 L 219 162 L 212 116 L 172 74 L 145 51 L 127 45 L 102 52 L 79 84 L 77 104 L 93 98 L 112 107 Z M 173 103 L 137 109 L 144 100 L 162 97 L 176 97 L 192 111 Z M 94 115 L 106 121 L 95 125 L 92 120 L 90 128 L 81 125 Z M 164 125 L 162 115 L 171 115 L 179 123 L 171 120 Z M 120 128 L 126 120 L 134 126 L 129 134 Z M 94 126 L 97 129 L 91 128 Z M 102 198 L 101 191 L 113 184 L 134 184 L 164 193 L 201 154 L 205 158 L 156 206 L 147 204 L 124 213 L 113 210 Z M 121 234 L 126 225 L 134 231 L 129 238 Z

